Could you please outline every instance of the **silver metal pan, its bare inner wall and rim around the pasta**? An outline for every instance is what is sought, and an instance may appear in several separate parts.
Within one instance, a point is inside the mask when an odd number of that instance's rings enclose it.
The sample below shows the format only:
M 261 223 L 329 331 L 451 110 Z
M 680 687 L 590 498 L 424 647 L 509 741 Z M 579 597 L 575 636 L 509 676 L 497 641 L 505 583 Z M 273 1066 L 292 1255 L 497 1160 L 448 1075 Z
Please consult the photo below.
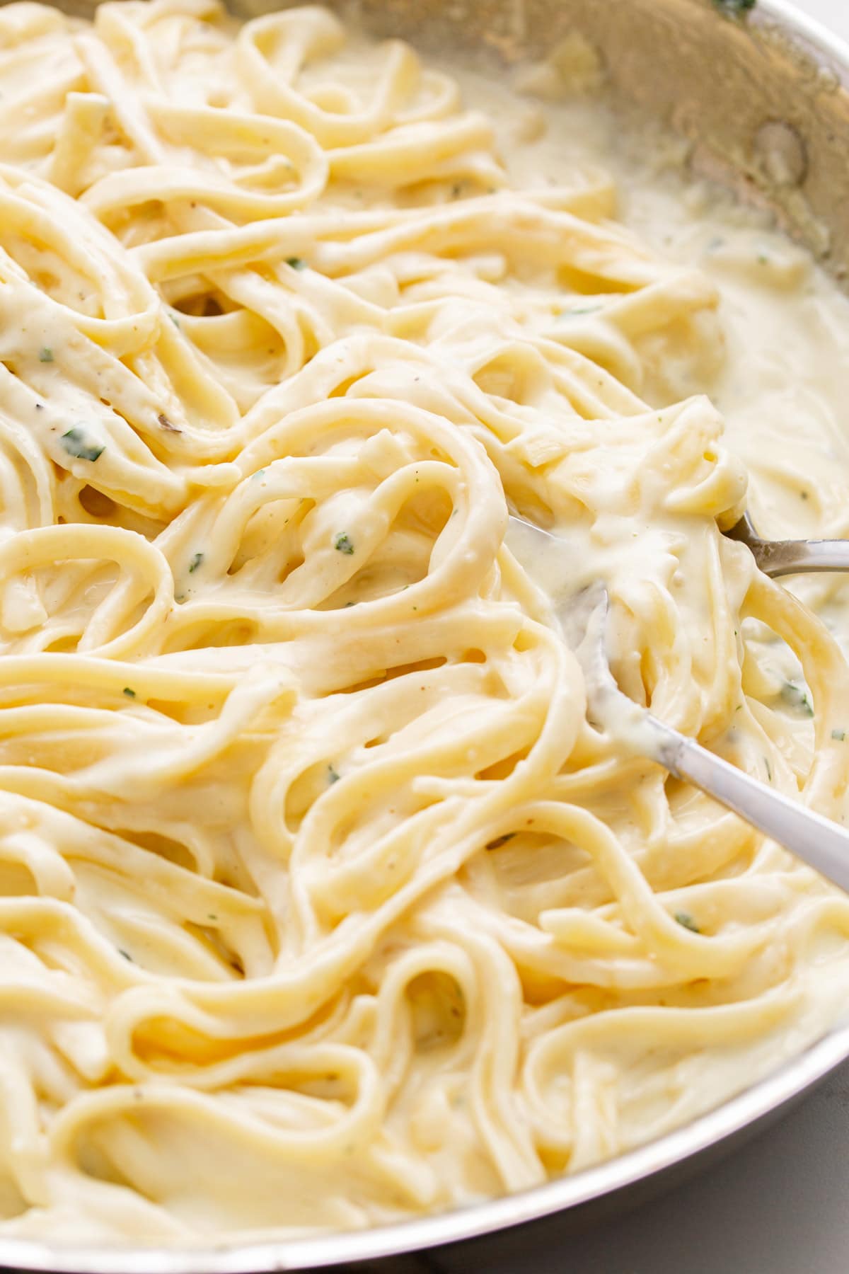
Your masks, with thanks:
M 614 99 L 692 141 L 694 169 L 774 210 L 838 279 L 849 278 L 849 47 L 785 0 L 359 0 L 377 36 L 498 66 L 538 57 L 566 31 L 600 50 Z M 87 0 L 60 4 L 87 15 Z M 235 0 L 239 17 L 286 5 Z M 332 5 L 331 5 L 332 6 Z M 350 13 L 350 5 L 336 4 Z M 778 158 L 776 158 L 778 155 Z M 680 1182 L 778 1119 L 849 1059 L 849 1024 L 717 1110 L 608 1163 L 536 1190 L 361 1233 L 252 1245 L 93 1249 L 0 1238 L 0 1269 L 69 1274 L 263 1274 L 379 1261 L 508 1227 L 545 1243 L 570 1226 Z M 546 1222 L 545 1218 L 549 1218 Z M 565 1227 L 564 1227 L 565 1222 Z M 532 1226 L 531 1235 L 524 1227 Z M 481 1254 L 482 1255 L 482 1254 Z M 393 1266 L 398 1268 L 398 1266 Z M 425 1269 L 426 1264 L 403 1266 Z

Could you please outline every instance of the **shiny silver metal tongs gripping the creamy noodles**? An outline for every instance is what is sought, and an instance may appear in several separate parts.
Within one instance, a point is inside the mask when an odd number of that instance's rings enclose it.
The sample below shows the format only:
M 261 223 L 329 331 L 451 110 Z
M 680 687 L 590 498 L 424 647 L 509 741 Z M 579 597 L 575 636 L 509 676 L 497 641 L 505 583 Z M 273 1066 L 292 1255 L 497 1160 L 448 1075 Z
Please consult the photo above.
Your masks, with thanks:
M 740 527 L 742 534 L 734 534 Z M 510 517 L 510 529 L 514 533 L 510 540 L 518 541 L 519 561 L 524 559 L 523 550 L 535 555 L 538 552 L 551 554 L 563 545 L 559 536 L 521 517 Z M 729 534 L 748 544 L 766 575 L 849 569 L 846 540 L 761 540 L 747 517 Z M 608 608 L 607 589 L 601 582 L 558 606 L 564 637 L 584 673 L 592 722 L 601 729 L 610 727 L 635 754 L 657 762 L 676 778 L 685 778 L 713 796 L 849 892 L 849 832 L 714 755 L 620 691 L 607 659 Z

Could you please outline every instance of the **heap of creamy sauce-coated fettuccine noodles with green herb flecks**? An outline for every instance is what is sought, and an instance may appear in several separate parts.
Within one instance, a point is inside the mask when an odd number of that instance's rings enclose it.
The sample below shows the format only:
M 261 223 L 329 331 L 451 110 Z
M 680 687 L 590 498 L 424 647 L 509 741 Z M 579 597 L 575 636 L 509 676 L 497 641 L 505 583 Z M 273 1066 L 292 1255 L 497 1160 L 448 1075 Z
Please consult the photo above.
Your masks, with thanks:
M 849 903 L 587 722 L 504 540 L 558 527 L 622 688 L 843 815 L 845 660 L 668 390 L 708 276 L 321 9 L 0 46 L 0 1233 L 468 1204 L 822 1033 Z

